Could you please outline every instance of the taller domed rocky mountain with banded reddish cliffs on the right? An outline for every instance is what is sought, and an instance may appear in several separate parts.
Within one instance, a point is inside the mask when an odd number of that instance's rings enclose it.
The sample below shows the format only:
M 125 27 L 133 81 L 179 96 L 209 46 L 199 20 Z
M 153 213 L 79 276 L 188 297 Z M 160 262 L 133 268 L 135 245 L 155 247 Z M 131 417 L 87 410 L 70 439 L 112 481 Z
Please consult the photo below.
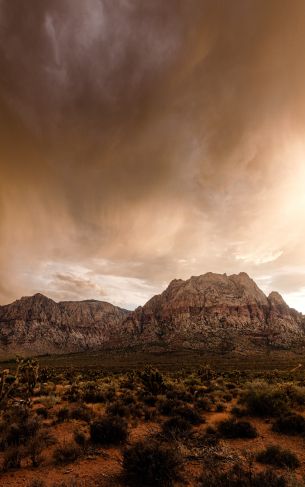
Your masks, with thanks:
M 245 273 L 207 273 L 174 280 L 124 321 L 123 335 L 143 348 L 216 352 L 297 348 L 305 344 L 301 313 L 278 293 L 269 297 Z

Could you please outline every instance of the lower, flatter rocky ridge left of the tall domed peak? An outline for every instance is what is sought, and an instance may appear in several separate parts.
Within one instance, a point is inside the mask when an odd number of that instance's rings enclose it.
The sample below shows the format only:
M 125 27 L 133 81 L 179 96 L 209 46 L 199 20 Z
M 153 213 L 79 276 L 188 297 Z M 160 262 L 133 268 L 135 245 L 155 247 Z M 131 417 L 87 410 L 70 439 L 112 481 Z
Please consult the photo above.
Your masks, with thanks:
M 66 353 L 115 346 L 129 312 L 103 301 L 56 303 L 42 294 L 0 306 L 0 352 Z

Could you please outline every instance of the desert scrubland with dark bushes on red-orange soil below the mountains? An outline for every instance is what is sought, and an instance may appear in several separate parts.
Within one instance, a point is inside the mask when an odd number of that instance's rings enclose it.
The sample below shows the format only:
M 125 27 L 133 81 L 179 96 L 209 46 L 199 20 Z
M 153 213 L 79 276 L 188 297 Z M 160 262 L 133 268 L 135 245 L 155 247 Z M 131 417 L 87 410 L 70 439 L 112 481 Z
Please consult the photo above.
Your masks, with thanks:
M 0 485 L 305 486 L 305 371 L 12 363 Z

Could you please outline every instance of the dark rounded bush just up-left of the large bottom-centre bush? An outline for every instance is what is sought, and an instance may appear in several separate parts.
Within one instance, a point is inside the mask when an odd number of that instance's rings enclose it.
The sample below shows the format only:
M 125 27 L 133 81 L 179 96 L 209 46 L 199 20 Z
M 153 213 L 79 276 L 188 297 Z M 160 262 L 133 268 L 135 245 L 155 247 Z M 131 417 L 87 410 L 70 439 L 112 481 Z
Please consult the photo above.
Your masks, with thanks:
M 100 445 L 117 445 L 126 441 L 127 422 L 119 416 L 104 416 L 90 425 L 90 438 Z

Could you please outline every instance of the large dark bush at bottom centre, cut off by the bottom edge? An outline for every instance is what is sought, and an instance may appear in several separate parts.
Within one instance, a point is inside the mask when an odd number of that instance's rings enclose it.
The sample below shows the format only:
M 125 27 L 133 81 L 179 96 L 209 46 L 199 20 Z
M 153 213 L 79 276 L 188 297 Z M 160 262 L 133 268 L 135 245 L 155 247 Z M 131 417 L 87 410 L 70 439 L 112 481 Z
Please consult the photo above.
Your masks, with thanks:
M 159 443 L 137 443 L 124 452 L 123 468 L 133 487 L 171 487 L 178 479 L 181 458 L 176 450 Z

